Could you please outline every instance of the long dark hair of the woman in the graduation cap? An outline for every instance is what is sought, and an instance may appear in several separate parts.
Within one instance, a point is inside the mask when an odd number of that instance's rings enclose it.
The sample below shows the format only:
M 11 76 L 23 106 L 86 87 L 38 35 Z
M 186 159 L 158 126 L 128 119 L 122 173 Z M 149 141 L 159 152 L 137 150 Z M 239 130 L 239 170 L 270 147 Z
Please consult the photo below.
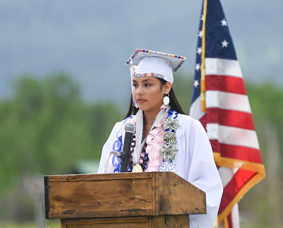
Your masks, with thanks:
M 164 79 L 162 78 L 157 78 L 160 80 L 161 82 L 161 88 L 166 84 L 167 81 L 165 81 Z M 169 105 L 178 113 L 180 114 L 184 114 L 184 115 L 187 115 L 184 110 L 182 109 L 175 93 L 174 93 L 174 90 L 173 90 L 173 87 L 171 87 L 171 90 L 169 92 L 169 95 L 170 95 L 170 102 L 169 102 Z M 136 108 L 135 106 L 132 105 L 133 103 L 133 94 L 131 94 L 131 98 L 130 98 L 130 106 L 129 106 L 129 109 L 128 109 L 128 113 L 126 115 L 126 117 L 124 119 L 126 119 L 127 117 L 129 117 L 130 115 L 136 115 L 139 108 Z

